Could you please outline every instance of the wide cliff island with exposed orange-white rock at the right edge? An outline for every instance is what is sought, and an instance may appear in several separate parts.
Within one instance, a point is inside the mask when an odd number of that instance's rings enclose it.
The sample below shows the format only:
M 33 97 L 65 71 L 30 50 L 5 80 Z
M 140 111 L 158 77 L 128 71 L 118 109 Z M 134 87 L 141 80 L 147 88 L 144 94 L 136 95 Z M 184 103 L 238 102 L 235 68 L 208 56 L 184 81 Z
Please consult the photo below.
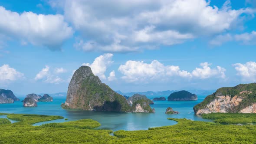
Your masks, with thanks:
M 196 115 L 209 113 L 256 113 L 256 83 L 219 88 L 194 106 Z

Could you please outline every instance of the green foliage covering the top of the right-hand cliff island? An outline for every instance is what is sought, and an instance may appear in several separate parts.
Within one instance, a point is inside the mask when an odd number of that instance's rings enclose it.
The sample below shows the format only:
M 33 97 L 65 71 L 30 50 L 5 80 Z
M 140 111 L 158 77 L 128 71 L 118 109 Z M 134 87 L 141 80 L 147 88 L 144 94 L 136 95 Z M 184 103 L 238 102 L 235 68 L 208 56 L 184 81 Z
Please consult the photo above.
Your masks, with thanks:
M 243 100 L 240 102 L 240 104 L 233 109 L 233 111 L 240 111 L 243 108 L 256 103 L 256 83 L 240 84 L 236 85 L 235 87 L 219 88 L 212 95 L 208 95 L 200 104 L 197 104 L 194 107 L 194 111 L 206 108 L 210 101 L 220 95 L 230 95 L 231 98 L 233 98 L 235 95 L 243 97 Z

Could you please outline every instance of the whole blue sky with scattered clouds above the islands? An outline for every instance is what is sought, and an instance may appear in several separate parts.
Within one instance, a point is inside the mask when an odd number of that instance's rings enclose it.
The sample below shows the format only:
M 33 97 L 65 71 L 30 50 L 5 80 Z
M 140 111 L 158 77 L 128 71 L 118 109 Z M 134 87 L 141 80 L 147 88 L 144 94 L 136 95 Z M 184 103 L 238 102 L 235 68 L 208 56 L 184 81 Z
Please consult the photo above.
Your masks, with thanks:
M 89 65 L 122 92 L 256 82 L 256 0 L 1 0 L 0 88 L 67 92 Z

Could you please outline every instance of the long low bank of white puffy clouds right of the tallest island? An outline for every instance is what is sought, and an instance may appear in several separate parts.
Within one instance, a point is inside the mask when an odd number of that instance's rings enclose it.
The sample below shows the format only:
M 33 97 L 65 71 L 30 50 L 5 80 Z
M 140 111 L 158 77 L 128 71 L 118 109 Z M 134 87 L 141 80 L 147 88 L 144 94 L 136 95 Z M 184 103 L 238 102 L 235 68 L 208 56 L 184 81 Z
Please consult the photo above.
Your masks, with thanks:
M 211 69 L 208 62 L 200 64 L 202 68 L 196 68 L 192 72 L 181 70 L 179 66 L 164 65 L 157 60 L 151 63 L 143 61 L 127 61 L 120 65 L 118 71 L 123 74 L 121 79 L 127 82 L 150 82 L 152 80 L 170 81 L 171 79 L 184 78 L 190 79 L 208 79 L 220 78 L 225 79 L 225 69 L 217 66 Z

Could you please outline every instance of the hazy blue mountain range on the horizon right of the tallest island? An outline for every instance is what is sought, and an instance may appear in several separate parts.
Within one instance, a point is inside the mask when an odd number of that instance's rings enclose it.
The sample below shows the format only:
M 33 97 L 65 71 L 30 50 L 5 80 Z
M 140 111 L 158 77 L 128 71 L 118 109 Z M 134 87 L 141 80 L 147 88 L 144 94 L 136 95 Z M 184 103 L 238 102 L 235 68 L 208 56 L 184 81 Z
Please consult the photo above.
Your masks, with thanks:
M 211 95 L 214 90 L 187 90 L 188 92 L 191 92 L 196 95 Z M 160 96 L 169 96 L 171 93 L 178 92 L 177 90 L 168 90 L 168 91 L 160 91 L 160 92 L 121 92 L 121 91 L 115 91 L 120 95 L 126 95 L 126 96 L 132 96 L 134 94 L 140 94 L 140 95 L 146 95 L 148 98 L 154 98 L 154 97 L 160 97 Z

